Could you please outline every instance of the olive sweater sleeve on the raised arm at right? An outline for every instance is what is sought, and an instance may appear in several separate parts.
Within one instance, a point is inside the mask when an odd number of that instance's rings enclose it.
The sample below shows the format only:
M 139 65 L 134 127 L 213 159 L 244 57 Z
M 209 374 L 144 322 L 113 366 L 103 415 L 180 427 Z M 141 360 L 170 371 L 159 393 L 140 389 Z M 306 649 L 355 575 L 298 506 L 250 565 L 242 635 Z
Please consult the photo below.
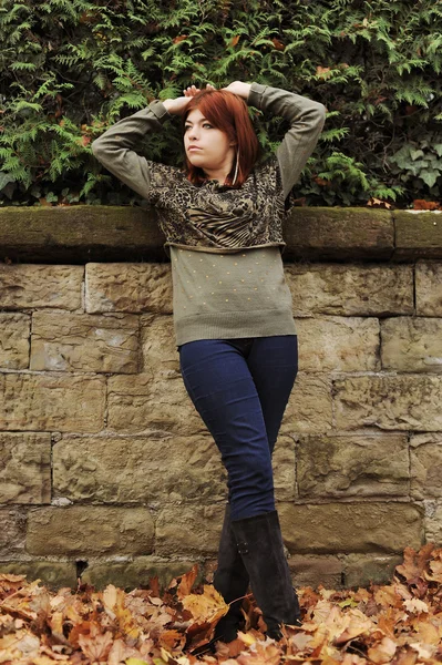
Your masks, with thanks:
M 251 84 L 247 104 L 265 114 L 280 115 L 290 123 L 276 152 L 286 198 L 315 150 L 326 122 L 326 106 L 294 92 L 260 83 Z

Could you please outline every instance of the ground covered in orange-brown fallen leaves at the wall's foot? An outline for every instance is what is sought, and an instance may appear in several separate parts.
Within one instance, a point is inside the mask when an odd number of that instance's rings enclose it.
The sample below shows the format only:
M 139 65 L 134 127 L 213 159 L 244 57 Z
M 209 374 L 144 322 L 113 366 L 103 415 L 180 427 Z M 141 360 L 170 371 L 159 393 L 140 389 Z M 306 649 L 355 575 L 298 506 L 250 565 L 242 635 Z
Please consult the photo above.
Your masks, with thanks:
M 387 585 L 358 591 L 299 587 L 302 626 L 266 638 L 253 596 L 244 633 L 216 653 L 205 648 L 227 611 L 212 585 L 193 589 L 197 574 L 156 579 L 130 593 L 109 584 L 50 592 L 24 575 L 0 574 L 2 665 L 420 665 L 442 662 L 442 549 L 404 550 Z

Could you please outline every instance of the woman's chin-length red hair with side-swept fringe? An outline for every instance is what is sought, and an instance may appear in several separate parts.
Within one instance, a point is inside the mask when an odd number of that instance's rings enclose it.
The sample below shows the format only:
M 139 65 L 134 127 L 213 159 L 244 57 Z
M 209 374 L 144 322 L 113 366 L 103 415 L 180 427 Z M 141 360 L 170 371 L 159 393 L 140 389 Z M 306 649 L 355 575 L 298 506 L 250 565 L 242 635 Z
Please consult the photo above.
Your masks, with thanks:
M 182 115 L 183 134 L 187 115 L 194 109 L 198 109 L 214 127 L 227 134 L 229 141 L 235 142 L 236 154 L 239 152 L 238 174 L 235 185 L 233 185 L 236 167 L 235 155 L 232 171 L 226 177 L 225 184 L 235 188 L 240 187 L 253 170 L 259 153 L 258 139 L 246 102 L 229 90 L 202 90 L 192 98 Z M 186 166 L 187 180 L 194 185 L 201 184 L 206 178 L 204 171 L 191 164 L 187 155 Z

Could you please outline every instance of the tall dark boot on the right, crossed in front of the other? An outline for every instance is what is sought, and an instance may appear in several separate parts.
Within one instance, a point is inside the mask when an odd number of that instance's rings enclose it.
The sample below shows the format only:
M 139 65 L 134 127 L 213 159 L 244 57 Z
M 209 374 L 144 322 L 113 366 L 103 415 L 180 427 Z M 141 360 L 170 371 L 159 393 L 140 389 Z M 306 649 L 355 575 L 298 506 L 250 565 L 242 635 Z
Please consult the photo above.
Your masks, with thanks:
M 250 586 L 267 624 L 266 635 L 280 640 L 280 624 L 301 625 L 277 511 L 232 522 Z

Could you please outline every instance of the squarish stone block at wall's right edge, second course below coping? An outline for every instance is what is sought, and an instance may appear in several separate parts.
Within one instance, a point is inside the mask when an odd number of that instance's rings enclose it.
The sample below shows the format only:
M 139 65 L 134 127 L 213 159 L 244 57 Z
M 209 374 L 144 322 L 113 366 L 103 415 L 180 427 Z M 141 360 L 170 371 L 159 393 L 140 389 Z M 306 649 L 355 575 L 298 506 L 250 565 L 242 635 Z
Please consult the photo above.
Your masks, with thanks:
M 388 318 L 381 339 L 382 369 L 442 374 L 442 318 Z

